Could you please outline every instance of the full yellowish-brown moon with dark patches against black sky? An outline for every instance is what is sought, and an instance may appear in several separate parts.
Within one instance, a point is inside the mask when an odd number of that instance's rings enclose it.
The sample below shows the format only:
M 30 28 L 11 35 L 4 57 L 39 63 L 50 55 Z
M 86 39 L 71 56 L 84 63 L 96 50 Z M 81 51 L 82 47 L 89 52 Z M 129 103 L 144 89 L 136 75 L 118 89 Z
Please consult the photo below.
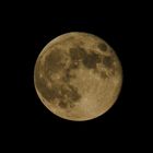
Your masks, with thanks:
M 122 67 L 101 37 L 70 32 L 50 40 L 34 68 L 42 103 L 56 116 L 84 121 L 111 108 L 122 85 Z

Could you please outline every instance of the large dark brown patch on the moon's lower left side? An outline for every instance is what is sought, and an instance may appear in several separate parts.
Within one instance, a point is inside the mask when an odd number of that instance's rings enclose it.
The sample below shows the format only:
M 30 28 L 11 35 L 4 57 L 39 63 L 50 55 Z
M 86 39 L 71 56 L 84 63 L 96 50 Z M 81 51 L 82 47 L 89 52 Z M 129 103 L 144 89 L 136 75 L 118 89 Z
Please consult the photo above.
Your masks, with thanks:
M 74 104 L 81 98 L 78 89 L 68 83 L 51 82 L 51 87 L 47 86 L 47 81 L 44 78 L 36 78 L 36 86 L 42 93 L 42 96 L 50 103 L 55 99 L 59 101 L 59 106 L 66 108 L 73 107 Z

